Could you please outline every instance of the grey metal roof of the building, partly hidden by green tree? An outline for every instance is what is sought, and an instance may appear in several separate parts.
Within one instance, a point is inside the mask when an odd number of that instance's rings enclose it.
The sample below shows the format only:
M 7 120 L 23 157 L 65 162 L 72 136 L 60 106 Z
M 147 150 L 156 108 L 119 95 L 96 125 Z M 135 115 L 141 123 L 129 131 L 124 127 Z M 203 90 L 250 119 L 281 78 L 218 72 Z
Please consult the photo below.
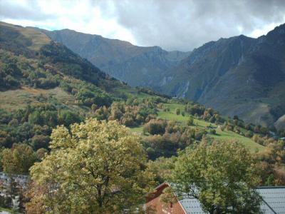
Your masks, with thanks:
M 257 191 L 262 197 L 261 211 L 265 214 L 285 214 L 285 187 L 260 187 Z M 206 214 L 196 198 L 184 197 L 180 200 L 187 214 Z

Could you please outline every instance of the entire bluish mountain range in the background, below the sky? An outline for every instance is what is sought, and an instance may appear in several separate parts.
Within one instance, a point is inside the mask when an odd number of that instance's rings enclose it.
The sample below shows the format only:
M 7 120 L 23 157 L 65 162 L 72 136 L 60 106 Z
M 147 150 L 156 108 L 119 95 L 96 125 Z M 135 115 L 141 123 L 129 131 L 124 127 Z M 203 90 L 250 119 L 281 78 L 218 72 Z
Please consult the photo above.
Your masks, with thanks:
M 284 128 L 285 25 L 257 39 L 234 36 L 189 52 L 134 46 L 69 29 L 37 30 L 130 86 L 147 86 L 227 116 Z

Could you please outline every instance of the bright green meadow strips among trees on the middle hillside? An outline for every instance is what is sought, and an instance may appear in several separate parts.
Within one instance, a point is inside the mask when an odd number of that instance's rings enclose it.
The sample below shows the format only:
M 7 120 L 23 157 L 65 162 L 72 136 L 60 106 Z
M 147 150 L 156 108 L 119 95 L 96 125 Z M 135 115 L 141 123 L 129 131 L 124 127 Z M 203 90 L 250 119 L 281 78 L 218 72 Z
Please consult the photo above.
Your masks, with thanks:
M 165 119 L 167 121 L 178 121 L 180 123 L 186 123 L 187 119 L 189 118 L 189 115 L 185 113 L 185 116 L 177 115 L 175 113 L 176 108 L 180 108 L 180 111 L 184 111 L 184 106 L 182 104 L 177 103 L 167 103 L 164 104 L 165 108 L 170 108 L 170 111 L 159 111 L 158 112 L 158 118 Z M 264 146 L 259 145 L 258 143 L 255 143 L 252 141 L 251 138 L 246 138 L 244 136 L 241 136 L 237 133 L 234 133 L 233 131 L 222 131 L 216 124 L 209 123 L 207 121 L 197 120 L 194 119 L 194 125 L 192 127 L 199 128 L 199 129 L 206 129 L 207 127 L 212 126 L 216 130 L 216 134 L 208 134 L 210 137 L 214 138 L 217 141 L 237 141 L 239 143 L 242 143 L 244 146 L 247 146 L 250 151 L 262 151 L 264 150 Z M 131 128 L 131 131 L 136 133 L 142 133 L 143 126 Z

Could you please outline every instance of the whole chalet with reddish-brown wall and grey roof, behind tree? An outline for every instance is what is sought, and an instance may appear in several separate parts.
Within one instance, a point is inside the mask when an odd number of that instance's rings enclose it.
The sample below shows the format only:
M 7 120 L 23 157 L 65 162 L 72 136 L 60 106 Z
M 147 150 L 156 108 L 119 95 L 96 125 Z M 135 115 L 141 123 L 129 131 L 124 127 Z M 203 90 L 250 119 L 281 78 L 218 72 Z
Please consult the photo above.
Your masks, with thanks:
M 155 210 L 157 214 L 205 214 L 199 200 L 196 198 L 182 198 L 177 203 L 166 205 L 160 201 L 162 191 L 169 186 L 162 183 L 155 188 L 155 193 L 147 198 L 145 208 L 147 213 Z M 259 187 L 257 191 L 262 197 L 261 211 L 265 214 L 285 213 L 285 186 L 282 187 Z

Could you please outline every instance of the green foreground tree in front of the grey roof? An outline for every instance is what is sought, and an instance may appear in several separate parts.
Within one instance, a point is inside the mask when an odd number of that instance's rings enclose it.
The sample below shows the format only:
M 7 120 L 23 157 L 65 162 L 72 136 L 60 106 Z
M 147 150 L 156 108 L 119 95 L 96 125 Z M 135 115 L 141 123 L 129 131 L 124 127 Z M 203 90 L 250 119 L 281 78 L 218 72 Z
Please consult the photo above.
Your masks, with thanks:
M 178 196 L 197 198 L 209 213 L 258 213 L 253 163 L 239 143 L 202 142 L 179 153 L 169 180 Z

